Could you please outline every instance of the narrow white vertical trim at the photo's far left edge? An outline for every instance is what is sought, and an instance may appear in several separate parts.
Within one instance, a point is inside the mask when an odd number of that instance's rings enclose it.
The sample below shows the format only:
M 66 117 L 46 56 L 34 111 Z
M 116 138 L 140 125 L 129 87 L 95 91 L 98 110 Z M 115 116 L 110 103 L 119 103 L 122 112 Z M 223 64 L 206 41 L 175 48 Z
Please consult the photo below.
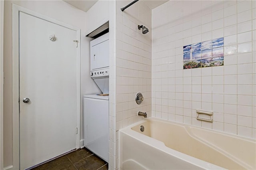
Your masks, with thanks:
M 0 0 L 0 170 L 4 169 L 4 1 Z

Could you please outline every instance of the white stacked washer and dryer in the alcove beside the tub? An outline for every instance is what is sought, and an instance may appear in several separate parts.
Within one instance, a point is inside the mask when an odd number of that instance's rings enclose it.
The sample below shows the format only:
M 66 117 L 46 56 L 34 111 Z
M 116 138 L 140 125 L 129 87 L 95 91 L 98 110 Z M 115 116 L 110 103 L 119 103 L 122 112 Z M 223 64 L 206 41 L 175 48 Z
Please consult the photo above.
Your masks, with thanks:
M 109 33 L 90 42 L 90 77 L 102 94 L 84 95 L 84 146 L 108 162 Z

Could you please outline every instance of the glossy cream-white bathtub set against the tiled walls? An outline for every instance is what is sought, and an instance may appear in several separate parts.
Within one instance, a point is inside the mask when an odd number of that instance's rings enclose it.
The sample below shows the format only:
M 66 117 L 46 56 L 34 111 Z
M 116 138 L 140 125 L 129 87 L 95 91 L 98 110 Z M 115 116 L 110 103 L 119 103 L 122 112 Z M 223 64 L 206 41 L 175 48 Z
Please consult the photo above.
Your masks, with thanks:
M 119 130 L 119 169 L 256 169 L 256 140 L 149 118 Z

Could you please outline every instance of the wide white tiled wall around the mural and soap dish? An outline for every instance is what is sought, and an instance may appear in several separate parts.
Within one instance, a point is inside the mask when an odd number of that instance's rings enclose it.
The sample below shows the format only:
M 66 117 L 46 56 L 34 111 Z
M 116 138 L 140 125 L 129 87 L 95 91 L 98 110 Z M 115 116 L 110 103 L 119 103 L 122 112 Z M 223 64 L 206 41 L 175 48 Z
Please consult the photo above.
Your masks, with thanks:
M 172 0 L 154 8 L 152 116 L 255 138 L 255 35 L 252 0 Z M 220 37 L 224 66 L 183 70 L 183 45 Z M 196 120 L 195 109 L 213 110 L 214 122 Z

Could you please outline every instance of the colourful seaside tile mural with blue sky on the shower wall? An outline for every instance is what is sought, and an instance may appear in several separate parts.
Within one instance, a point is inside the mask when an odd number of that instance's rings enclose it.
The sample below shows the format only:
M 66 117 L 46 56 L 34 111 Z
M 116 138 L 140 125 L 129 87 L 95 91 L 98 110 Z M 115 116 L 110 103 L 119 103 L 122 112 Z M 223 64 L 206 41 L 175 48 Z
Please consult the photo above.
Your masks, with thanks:
M 224 65 L 223 37 L 183 46 L 183 69 L 219 65 Z

